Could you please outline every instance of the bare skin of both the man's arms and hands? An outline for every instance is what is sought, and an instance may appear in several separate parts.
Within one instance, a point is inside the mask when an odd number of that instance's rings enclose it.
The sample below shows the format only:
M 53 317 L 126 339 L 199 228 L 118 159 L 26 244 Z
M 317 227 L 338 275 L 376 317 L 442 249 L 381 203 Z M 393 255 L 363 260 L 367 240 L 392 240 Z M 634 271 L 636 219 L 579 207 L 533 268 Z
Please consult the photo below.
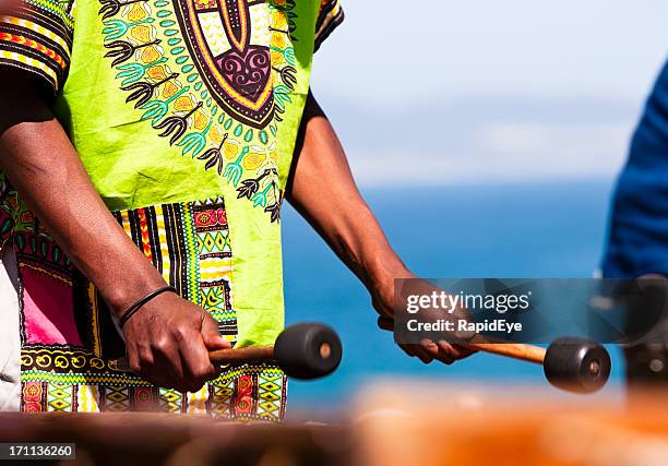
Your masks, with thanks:
M 343 147 L 312 95 L 295 156 L 289 202 L 365 284 L 380 314 L 379 324 L 390 330 L 393 280 L 414 275 L 394 253 L 362 200 Z M 57 120 L 21 122 L 4 131 L 0 166 L 116 318 L 167 285 L 110 215 Z M 333 212 L 331 199 L 346 202 Z M 206 311 L 172 292 L 144 304 L 124 325 L 123 337 L 135 373 L 160 386 L 189 392 L 217 375 L 208 351 L 230 347 Z M 468 354 L 445 342 L 404 349 L 425 362 L 451 363 Z

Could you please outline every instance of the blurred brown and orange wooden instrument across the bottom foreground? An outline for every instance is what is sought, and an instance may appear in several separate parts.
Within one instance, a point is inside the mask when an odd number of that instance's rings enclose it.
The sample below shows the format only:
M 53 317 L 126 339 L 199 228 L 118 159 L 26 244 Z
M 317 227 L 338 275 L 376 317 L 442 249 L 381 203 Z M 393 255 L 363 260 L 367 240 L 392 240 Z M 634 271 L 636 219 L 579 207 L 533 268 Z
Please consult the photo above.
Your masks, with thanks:
M 557 396 L 557 397 L 554 397 Z M 577 396 L 577 397 L 575 397 Z M 668 402 L 394 381 L 338 423 L 236 423 L 154 414 L 0 415 L 1 442 L 73 442 L 72 462 L 138 466 L 664 466 Z

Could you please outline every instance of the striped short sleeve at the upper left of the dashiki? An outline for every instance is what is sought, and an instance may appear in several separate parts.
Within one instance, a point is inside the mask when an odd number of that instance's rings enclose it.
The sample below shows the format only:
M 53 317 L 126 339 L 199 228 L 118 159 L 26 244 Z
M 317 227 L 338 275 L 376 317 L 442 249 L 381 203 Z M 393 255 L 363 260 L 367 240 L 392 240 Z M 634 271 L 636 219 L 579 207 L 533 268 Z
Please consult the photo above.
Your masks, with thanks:
M 20 0 L 0 16 L 0 67 L 25 70 L 57 93 L 68 75 L 74 0 Z

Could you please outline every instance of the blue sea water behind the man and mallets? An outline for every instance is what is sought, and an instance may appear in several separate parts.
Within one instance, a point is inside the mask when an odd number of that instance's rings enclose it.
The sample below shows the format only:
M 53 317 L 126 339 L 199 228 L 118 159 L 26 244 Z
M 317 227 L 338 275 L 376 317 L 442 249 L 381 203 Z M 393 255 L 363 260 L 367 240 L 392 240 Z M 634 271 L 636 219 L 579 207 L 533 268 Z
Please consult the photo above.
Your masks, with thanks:
M 424 277 L 592 277 L 606 235 L 610 180 L 362 190 L 404 262 Z M 332 210 L 336 211 L 334 201 Z M 286 323 L 324 322 L 344 359 L 331 377 L 290 381 L 297 409 L 345 407 L 374 379 L 542 384 L 539 366 L 474 355 L 453 366 L 407 357 L 378 330 L 366 289 L 289 207 L 283 213 Z M 622 359 L 609 348 L 619 387 Z

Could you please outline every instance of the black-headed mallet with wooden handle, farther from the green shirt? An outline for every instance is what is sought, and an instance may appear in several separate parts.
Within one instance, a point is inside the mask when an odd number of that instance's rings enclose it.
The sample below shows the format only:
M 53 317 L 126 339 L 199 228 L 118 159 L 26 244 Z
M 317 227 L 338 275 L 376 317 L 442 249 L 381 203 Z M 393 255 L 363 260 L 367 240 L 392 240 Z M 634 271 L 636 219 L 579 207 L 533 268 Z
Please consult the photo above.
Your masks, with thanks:
M 596 392 L 610 375 L 608 351 L 587 339 L 558 338 L 546 349 L 524 344 L 489 343 L 485 337 L 475 335 L 463 346 L 541 365 L 546 379 L 569 392 Z

